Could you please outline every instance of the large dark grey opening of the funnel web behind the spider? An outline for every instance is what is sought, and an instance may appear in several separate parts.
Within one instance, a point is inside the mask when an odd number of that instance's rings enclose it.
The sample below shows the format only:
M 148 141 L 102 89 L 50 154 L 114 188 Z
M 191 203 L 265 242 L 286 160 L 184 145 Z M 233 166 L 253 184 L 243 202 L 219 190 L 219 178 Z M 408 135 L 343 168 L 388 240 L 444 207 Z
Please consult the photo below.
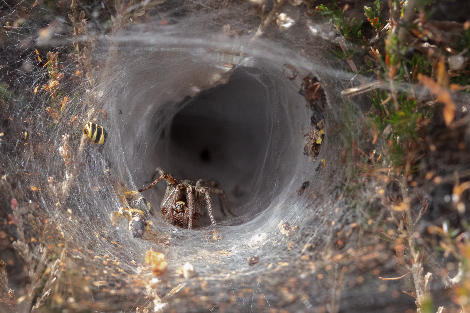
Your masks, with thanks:
M 238 209 L 255 197 L 267 153 L 266 96 L 265 86 L 255 77 L 235 71 L 227 84 L 185 99 L 187 104 L 167 128 L 165 149 L 157 150 L 164 160 L 159 166 L 179 180 L 219 182 L 232 212 L 243 215 Z M 211 196 L 214 216 L 220 221 L 224 216 L 219 196 Z M 207 215 L 196 222 L 210 223 Z

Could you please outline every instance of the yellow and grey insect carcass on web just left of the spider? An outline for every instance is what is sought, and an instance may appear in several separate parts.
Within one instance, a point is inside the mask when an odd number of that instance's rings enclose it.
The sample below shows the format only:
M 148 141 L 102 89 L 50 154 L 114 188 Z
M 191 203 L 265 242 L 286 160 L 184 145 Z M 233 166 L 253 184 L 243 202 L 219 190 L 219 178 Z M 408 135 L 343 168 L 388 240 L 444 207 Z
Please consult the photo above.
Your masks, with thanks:
M 138 191 L 131 191 L 124 186 L 124 183 L 116 183 L 108 180 L 116 195 L 125 206 L 119 211 L 112 211 L 110 220 L 113 225 L 121 218 L 129 221 L 129 231 L 134 238 L 142 238 L 145 231 L 148 231 L 152 222 L 148 221 L 149 215 L 153 215 L 152 208 L 145 198 L 139 197 Z

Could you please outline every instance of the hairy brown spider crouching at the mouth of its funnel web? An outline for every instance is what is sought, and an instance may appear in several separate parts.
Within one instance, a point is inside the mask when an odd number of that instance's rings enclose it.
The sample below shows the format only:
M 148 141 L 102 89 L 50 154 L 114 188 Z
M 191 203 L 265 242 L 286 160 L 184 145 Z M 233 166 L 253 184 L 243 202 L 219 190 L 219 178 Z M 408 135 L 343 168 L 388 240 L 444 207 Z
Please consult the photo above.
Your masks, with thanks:
M 216 225 L 214 215 L 212 215 L 212 204 L 210 193 L 219 195 L 220 211 L 226 215 L 222 209 L 222 199 L 225 203 L 228 213 L 235 216 L 228 206 L 225 191 L 218 189 L 219 183 L 211 180 L 199 179 L 196 183 L 185 179 L 181 182 L 166 174 L 161 168 L 157 168 L 156 173 L 160 176 L 149 184 L 149 186 L 139 190 L 145 191 L 152 188 L 156 183 L 164 179 L 166 181 L 166 191 L 163 197 L 160 210 L 165 216 L 165 221 L 170 220 L 178 223 L 180 226 L 192 229 L 193 221 L 198 220 L 204 215 L 204 200 L 207 203 L 207 213 L 211 218 L 212 225 Z M 211 188 L 213 187 L 213 188 Z M 185 193 L 181 192 L 186 190 Z

